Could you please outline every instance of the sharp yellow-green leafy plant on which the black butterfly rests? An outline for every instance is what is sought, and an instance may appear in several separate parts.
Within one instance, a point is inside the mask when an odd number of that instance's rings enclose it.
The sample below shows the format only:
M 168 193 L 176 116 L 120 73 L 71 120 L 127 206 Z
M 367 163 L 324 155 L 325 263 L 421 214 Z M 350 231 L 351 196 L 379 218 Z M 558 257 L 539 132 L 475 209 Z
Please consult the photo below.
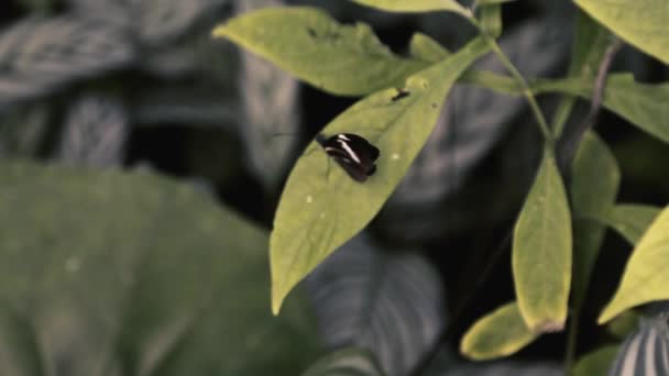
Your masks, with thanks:
M 592 100 L 594 110 L 603 104 L 669 142 L 667 84 L 644 85 L 627 74 L 597 80 L 599 75 L 607 74 L 604 66 L 618 43 L 608 31 L 669 63 L 669 33 L 662 21 L 669 18 L 666 4 L 654 0 L 575 1 L 586 14 L 579 18 L 569 75 L 527 84 L 495 41 L 502 32 L 503 1 L 479 1 L 476 11 L 456 1 L 355 2 L 388 12 L 454 12 L 480 36 L 450 53 L 416 34 L 410 55 L 403 57 L 381 44 L 366 25 L 342 25 L 311 8 L 252 12 L 213 31 L 215 36 L 240 44 L 321 90 L 365 96 L 323 132 L 361 134 L 384 155 L 377 174 L 360 185 L 343 172 L 330 169 L 327 155 L 317 152 L 317 143 L 304 152 L 285 186 L 270 241 L 274 313 L 299 280 L 380 211 L 426 143 L 441 103 L 458 80 L 526 97 L 545 142 L 535 181 L 513 233 L 516 301 L 478 321 L 462 340 L 462 353 L 478 360 L 509 355 L 541 334 L 563 330 L 569 311 L 573 312 L 572 323 L 577 321 L 606 226 L 618 231 L 635 250 L 599 322 L 606 323 L 641 303 L 669 299 L 669 280 L 662 272 L 669 262 L 669 210 L 615 202 L 621 174 L 606 144 L 588 131 L 592 124 L 582 125 L 581 132 L 585 133 L 564 141 L 567 146 L 558 143 L 575 97 Z M 511 76 L 470 68 L 490 52 L 505 63 Z M 535 99 L 545 92 L 566 95 L 552 126 Z M 602 103 L 597 103 L 597 97 L 603 97 Z M 577 146 L 571 163 L 569 150 Z M 559 157 L 569 163 L 562 173 Z M 563 183 L 567 175 L 569 189 Z M 332 367 L 343 362 L 341 356 L 331 360 Z M 316 368 L 327 367 L 318 364 Z M 361 365 L 360 369 L 372 367 Z

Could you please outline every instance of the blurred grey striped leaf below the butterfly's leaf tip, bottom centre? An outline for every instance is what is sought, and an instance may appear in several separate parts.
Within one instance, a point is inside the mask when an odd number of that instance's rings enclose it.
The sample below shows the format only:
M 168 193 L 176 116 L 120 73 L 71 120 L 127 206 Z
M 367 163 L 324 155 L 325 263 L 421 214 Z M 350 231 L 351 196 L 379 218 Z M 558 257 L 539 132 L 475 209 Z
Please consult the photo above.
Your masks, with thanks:
M 439 274 L 415 250 L 384 250 L 361 234 L 305 281 L 325 342 L 371 351 L 390 376 L 410 374 L 446 325 Z

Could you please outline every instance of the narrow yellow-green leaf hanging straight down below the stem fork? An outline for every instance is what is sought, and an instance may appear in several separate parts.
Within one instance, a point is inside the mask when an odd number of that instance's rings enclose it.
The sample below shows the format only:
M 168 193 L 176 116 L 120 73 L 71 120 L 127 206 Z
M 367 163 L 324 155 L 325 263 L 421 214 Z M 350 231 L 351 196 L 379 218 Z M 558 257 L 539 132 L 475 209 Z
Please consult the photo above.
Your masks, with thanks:
M 531 331 L 562 330 L 571 280 L 571 218 L 552 151 L 539 172 L 516 222 L 513 274 L 518 307 Z

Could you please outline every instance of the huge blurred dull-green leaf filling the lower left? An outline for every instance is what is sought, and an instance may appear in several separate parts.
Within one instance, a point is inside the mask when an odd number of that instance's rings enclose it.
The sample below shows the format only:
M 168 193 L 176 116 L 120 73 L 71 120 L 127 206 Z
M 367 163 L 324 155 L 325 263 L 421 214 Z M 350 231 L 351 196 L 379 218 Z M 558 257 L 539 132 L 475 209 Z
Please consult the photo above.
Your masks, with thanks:
M 295 375 L 317 356 L 303 300 L 267 309 L 265 232 L 190 186 L 4 162 L 0 208 L 3 376 Z

